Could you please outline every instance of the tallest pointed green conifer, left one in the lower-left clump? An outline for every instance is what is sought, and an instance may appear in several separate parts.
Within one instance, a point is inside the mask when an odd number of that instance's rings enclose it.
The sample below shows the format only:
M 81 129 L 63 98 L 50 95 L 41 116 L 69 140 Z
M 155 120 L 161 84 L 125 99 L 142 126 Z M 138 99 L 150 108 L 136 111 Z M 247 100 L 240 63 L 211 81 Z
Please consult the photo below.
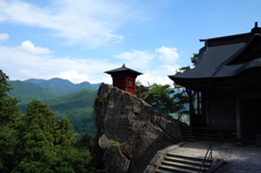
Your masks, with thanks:
M 47 104 L 34 100 L 23 121 L 14 172 L 52 172 L 57 160 L 54 114 Z

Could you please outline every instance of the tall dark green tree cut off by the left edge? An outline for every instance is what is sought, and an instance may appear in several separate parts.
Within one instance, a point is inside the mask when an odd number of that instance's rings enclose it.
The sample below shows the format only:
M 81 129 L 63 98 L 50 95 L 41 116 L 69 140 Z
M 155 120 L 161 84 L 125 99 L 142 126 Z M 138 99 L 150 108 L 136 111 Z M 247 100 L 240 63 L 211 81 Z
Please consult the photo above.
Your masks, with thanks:
M 20 111 L 17 99 L 11 98 L 7 91 L 9 76 L 0 70 L 0 172 L 10 172 L 13 168 L 14 150 L 17 144 L 17 126 Z

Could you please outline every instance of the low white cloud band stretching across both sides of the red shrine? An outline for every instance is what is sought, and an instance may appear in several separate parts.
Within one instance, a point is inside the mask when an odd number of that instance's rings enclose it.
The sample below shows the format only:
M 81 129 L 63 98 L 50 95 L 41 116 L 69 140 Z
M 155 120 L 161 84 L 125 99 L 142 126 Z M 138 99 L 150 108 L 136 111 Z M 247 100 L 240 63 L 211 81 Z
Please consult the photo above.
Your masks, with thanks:
M 54 58 L 49 54 L 32 53 L 32 50 L 36 48 L 35 46 L 24 46 L 23 48 L 28 48 L 30 51 L 22 49 L 22 46 L 0 46 L 1 69 L 11 79 L 61 77 L 73 83 L 111 84 L 111 76 L 103 72 L 120 67 L 125 62 L 127 67 L 142 73 L 137 79 L 145 85 L 148 83 L 172 85 L 173 82 L 167 75 L 175 74 L 179 67 L 175 63 L 159 61 L 157 59 L 159 53 L 156 51 L 123 52 L 116 55 L 117 63 L 113 63 L 108 59 Z

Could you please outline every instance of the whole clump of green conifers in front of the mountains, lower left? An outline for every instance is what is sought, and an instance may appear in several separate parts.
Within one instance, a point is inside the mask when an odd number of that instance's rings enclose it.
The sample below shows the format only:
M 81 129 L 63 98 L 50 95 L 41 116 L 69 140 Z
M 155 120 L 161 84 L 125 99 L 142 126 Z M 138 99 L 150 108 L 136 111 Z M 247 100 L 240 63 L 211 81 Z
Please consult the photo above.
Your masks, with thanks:
M 38 100 L 28 104 L 21 127 L 16 166 L 13 172 L 95 172 L 88 149 L 76 148 L 73 125 L 66 118 L 54 123 L 54 114 Z

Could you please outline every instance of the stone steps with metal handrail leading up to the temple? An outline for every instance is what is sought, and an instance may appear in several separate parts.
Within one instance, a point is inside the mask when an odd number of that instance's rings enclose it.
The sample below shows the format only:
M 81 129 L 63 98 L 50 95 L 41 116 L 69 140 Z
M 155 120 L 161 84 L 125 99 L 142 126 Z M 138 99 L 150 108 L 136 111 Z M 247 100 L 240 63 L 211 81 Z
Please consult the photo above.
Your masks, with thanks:
M 166 153 L 156 173 L 198 173 L 202 162 L 202 158 Z M 211 163 L 212 160 L 206 162 L 206 170 L 210 169 Z

